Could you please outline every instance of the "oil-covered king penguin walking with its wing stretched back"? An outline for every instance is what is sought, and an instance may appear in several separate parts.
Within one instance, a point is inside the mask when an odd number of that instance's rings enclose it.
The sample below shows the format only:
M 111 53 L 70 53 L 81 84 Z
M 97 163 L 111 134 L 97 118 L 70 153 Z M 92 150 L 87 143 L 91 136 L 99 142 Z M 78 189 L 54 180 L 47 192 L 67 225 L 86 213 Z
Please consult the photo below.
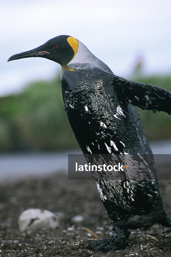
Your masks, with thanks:
M 152 151 L 135 106 L 171 115 L 171 93 L 160 87 L 115 76 L 87 47 L 61 35 L 8 61 L 42 57 L 62 66 L 64 109 L 84 154 L 149 154 L 149 180 L 97 180 L 99 195 L 113 223 L 113 236 L 90 244 L 92 250 L 125 247 L 130 228 L 159 223 L 171 227 L 160 192 Z M 151 164 L 152 163 L 152 164 Z M 151 172 L 151 173 L 150 173 Z M 145 215 L 144 219 L 129 218 Z

